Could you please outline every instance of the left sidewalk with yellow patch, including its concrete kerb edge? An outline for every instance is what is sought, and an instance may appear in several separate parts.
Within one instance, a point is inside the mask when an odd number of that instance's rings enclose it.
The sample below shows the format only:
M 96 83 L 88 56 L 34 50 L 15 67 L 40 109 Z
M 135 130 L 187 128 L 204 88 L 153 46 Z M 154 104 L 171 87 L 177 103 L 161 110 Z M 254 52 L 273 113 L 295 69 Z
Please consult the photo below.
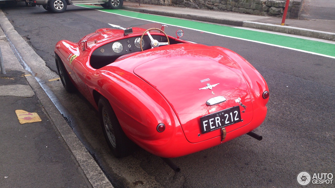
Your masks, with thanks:
M 6 71 L 0 72 L 0 187 L 113 188 L 34 75 L 23 69 L 4 26 L 0 28 Z

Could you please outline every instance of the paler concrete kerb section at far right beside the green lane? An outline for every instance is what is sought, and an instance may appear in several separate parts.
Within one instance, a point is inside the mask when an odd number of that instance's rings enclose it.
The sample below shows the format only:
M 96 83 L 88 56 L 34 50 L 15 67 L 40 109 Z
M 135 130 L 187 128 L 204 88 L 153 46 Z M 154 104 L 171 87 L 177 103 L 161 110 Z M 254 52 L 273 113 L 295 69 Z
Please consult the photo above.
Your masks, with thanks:
M 282 33 L 296 34 L 302 36 L 309 36 L 314 38 L 321 38 L 327 40 L 335 40 L 335 33 L 325 32 L 325 31 L 317 31 L 312 29 L 291 27 L 285 25 L 275 25 L 270 23 L 260 23 L 255 21 L 244 21 L 243 27 L 250 27 L 255 29 L 263 29 L 269 31 L 277 31 Z

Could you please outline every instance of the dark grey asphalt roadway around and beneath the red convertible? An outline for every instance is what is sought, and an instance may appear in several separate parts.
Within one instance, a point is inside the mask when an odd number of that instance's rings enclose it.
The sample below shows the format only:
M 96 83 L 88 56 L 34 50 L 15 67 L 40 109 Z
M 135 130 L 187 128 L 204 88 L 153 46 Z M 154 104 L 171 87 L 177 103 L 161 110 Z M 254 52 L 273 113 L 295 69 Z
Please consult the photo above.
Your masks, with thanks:
M 144 23 L 77 6 L 68 6 L 62 14 L 24 4 L 4 8 L 3 12 L 54 71 L 53 50 L 57 41 L 78 41 L 98 28 L 110 27 L 108 23 L 122 27 Z M 166 32 L 174 35 L 177 29 L 169 26 Z M 90 104 L 79 93 L 65 93 L 59 82 L 50 82 L 49 87 L 64 106 L 70 126 L 115 187 L 299 187 L 296 175 L 300 171 L 335 174 L 334 59 L 183 30 L 183 39 L 231 49 L 263 75 L 269 86 L 270 101 L 267 118 L 255 130 L 263 135 L 263 140 L 244 135 L 172 159 L 181 168 L 180 173 L 173 172 L 160 158 L 142 149 L 130 157 L 115 159 Z

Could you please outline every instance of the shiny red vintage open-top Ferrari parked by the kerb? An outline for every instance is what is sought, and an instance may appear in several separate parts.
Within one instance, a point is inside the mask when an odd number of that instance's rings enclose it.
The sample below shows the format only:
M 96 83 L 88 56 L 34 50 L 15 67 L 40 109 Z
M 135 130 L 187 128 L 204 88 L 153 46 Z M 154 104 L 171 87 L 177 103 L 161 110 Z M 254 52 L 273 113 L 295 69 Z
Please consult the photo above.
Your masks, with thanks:
M 260 138 L 251 131 L 265 119 L 269 89 L 259 72 L 231 50 L 182 40 L 181 29 L 166 35 L 164 26 L 102 28 L 56 44 L 65 90 L 99 111 L 112 153 L 125 157 L 135 143 L 172 158 L 246 133 Z

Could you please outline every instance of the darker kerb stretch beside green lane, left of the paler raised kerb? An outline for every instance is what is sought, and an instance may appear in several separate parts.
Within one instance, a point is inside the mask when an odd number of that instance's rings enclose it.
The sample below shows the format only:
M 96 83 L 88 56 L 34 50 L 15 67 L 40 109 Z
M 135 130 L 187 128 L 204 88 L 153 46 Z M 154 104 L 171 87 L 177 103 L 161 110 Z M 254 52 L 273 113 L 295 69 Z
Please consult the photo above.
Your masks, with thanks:
M 151 9 L 145 9 L 145 8 L 128 7 L 128 6 L 123 6 L 122 9 L 134 11 L 134 12 L 147 13 L 147 14 L 155 14 L 155 15 L 161 15 L 161 16 L 170 16 L 170 17 L 177 17 L 177 18 L 184 18 L 184 19 L 191 19 L 191 20 L 207 21 L 207 22 L 214 22 L 214 23 L 227 24 L 227 25 L 236 25 L 236 26 L 243 25 L 243 21 L 218 19 L 215 17 L 199 16 L 199 15 L 193 15 L 193 14 L 192 15 L 191 14 L 181 14 L 181 13 L 175 13 L 175 12 L 157 11 L 157 10 L 151 10 Z

